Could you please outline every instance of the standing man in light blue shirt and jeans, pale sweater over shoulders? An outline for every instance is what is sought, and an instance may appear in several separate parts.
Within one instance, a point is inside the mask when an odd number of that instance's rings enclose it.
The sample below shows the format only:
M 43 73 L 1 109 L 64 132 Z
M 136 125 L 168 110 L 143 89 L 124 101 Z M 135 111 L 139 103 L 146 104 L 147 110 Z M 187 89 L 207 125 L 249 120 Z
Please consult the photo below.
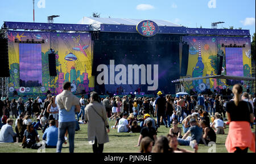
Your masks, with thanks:
M 68 130 L 69 153 L 73 153 L 76 131 L 75 113 L 80 112 L 80 102 L 79 98 L 71 92 L 71 83 L 69 81 L 63 84 L 63 92 L 56 96 L 56 102 L 59 109 L 59 132 L 56 152 L 61 152 L 62 144 L 65 142 L 65 132 Z

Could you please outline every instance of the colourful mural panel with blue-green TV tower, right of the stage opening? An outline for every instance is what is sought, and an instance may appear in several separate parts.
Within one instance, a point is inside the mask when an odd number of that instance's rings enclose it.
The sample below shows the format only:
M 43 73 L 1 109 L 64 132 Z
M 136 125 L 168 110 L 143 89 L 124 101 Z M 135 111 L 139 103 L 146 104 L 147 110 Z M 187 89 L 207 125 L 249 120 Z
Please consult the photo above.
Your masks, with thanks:
M 239 60 L 243 66 L 242 76 L 251 76 L 251 59 L 250 59 L 250 38 L 243 37 L 217 37 L 217 36 L 187 36 L 183 41 L 189 44 L 189 61 L 187 76 L 201 77 L 217 75 L 217 54 L 224 54 L 221 75 L 226 73 L 226 51 L 224 45 L 236 44 L 245 45 L 242 48 L 242 55 Z M 246 87 L 246 83 L 243 85 Z M 229 87 L 224 79 L 204 79 L 194 80 L 185 83 L 187 92 L 193 90 L 202 93 L 207 89 L 214 90 L 225 89 Z

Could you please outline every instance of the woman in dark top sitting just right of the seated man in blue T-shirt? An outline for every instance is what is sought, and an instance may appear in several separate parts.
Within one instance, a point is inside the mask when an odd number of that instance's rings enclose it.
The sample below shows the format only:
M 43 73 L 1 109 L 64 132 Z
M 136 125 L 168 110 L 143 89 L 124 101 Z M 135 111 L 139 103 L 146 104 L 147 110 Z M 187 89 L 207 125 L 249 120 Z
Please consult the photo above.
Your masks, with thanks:
M 200 125 L 203 128 L 203 138 L 200 143 L 208 145 L 210 142 L 216 143 L 216 133 L 214 130 L 209 126 L 207 120 L 201 120 Z

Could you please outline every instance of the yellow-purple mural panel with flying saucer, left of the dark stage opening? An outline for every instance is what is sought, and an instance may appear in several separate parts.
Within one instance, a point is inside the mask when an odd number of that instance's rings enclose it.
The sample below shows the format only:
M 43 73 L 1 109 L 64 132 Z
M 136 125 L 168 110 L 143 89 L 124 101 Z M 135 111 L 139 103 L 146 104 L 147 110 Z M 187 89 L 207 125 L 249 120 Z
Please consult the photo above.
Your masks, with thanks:
M 92 44 L 90 33 L 53 33 L 53 32 L 18 32 L 9 31 L 9 64 L 10 81 L 9 90 L 16 90 L 20 96 L 46 94 L 59 94 L 65 81 L 71 81 L 72 92 L 89 92 L 94 89 L 94 77 L 92 76 Z M 26 87 L 19 84 L 22 72 L 18 41 L 34 40 L 42 41 L 42 85 L 38 87 Z M 50 49 L 56 53 L 57 76 L 49 76 L 48 54 Z M 31 53 L 32 55 L 32 53 Z M 30 72 L 27 71 L 27 74 Z M 10 93 L 11 94 L 11 93 Z

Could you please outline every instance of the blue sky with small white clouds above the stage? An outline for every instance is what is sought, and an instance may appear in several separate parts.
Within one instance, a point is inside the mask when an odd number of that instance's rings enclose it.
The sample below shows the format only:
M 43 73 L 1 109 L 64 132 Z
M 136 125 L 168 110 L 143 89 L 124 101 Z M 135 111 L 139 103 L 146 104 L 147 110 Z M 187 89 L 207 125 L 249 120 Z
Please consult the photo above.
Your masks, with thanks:
M 32 0 L 2 0 L 3 21 L 33 21 Z M 40 3 L 39 2 L 45 2 Z M 215 3 L 216 2 L 216 3 Z M 35 0 L 35 22 L 46 23 L 47 16 L 60 15 L 55 23 L 76 24 L 92 12 L 102 18 L 162 19 L 185 27 L 211 28 L 211 23 L 225 21 L 218 28 L 234 26 L 255 32 L 255 0 Z

